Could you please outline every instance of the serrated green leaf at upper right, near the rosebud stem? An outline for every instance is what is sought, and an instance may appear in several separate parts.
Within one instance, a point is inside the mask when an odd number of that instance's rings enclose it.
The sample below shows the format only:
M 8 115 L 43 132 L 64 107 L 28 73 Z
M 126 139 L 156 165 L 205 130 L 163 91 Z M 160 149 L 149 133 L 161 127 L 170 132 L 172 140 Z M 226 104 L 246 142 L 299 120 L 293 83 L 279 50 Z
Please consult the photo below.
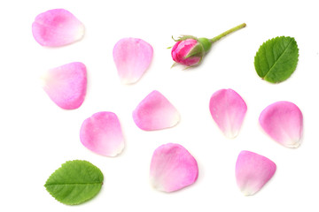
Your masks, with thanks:
M 258 75 L 271 83 L 288 79 L 296 70 L 299 49 L 292 37 L 276 37 L 264 42 L 254 57 Z

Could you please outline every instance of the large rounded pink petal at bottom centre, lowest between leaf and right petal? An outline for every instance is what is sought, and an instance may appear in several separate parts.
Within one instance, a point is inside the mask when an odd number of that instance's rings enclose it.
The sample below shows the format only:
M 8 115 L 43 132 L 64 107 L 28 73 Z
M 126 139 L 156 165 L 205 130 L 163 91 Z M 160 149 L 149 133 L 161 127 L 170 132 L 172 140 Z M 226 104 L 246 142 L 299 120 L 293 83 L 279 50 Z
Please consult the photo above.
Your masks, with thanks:
M 150 178 L 159 191 L 174 192 L 196 181 L 198 163 L 181 145 L 168 143 L 154 151 Z

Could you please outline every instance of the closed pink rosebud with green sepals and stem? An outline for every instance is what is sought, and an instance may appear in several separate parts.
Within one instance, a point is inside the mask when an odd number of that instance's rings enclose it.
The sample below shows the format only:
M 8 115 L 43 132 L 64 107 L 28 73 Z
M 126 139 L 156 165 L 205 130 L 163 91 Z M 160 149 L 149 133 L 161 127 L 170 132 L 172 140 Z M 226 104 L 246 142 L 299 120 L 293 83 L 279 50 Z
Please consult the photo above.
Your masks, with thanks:
M 183 64 L 189 67 L 198 65 L 209 49 L 211 49 L 213 42 L 217 42 L 227 34 L 235 32 L 245 26 L 244 23 L 233 27 L 213 39 L 197 38 L 191 35 L 184 35 L 177 40 L 173 39 L 176 43 L 172 49 L 172 58 L 177 64 Z

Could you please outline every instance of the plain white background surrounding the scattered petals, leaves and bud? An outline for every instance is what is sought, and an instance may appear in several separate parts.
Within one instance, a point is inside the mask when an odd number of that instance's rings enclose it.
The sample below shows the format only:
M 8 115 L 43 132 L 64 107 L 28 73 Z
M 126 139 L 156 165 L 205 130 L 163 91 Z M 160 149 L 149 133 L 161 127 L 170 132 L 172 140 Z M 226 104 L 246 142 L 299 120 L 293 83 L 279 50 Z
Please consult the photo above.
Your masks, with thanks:
M 0 210 L 1 211 L 318 211 L 319 191 L 319 13 L 317 1 L 4 1 L 0 2 Z M 62 48 L 43 48 L 31 25 L 43 11 L 64 8 L 80 19 L 85 36 Z M 214 44 L 203 64 L 170 68 L 171 36 L 214 37 L 245 22 L 247 27 Z M 300 49 L 290 79 L 261 80 L 253 58 L 262 42 L 285 35 Z M 113 46 L 123 37 L 152 44 L 152 65 L 134 85 L 121 85 Z M 47 69 L 79 61 L 88 68 L 82 107 L 61 110 L 41 87 Z M 208 110 L 210 96 L 232 88 L 248 110 L 241 132 L 226 139 Z M 181 114 L 173 128 L 144 132 L 132 111 L 157 89 Z M 276 101 L 297 104 L 304 115 L 300 148 L 284 148 L 263 133 L 258 117 Z M 82 146 L 82 121 L 98 111 L 121 120 L 126 147 L 121 155 L 96 155 Z M 152 152 L 176 142 L 197 159 L 198 181 L 179 192 L 161 193 L 149 183 Z M 267 156 L 277 165 L 259 193 L 239 192 L 235 163 L 241 150 Z M 81 159 L 105 176 L 96 198 L 79 206 L 55 201 L 44 183 L 62 163 Z

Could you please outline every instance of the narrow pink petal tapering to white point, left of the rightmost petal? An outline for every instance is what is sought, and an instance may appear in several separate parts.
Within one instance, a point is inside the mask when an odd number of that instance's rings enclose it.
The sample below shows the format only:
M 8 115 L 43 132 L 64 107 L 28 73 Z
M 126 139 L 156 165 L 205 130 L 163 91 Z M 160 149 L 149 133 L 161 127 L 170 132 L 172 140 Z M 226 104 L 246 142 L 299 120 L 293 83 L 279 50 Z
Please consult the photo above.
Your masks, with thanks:
M 232 89 L 218 90 L 210 99 L 209 110 L 222 133 L 228 138 L 235 138 L 247 111 L 242 97 Z

